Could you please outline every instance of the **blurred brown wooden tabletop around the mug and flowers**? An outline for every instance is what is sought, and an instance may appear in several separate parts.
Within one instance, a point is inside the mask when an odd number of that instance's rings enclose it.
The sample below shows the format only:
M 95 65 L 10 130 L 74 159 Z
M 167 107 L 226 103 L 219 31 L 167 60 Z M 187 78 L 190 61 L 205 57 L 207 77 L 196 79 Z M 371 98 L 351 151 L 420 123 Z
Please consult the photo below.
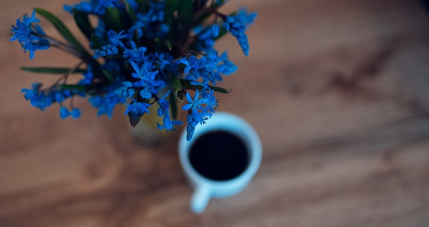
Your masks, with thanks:
M 219 110 L 250 122 L 263 159 L 252 184 L 191 213 L 193 189 L 177 137 L 142 146 L 117 109 L 111 120 L 82 99 L 78 120 L 42 112 L 20 93 L 35 81 L 19 66 L 71 66 L 55 50 L 30 61 L 10 26 L 32 7 L 0 3 L 0 226 L 429 226 L 429 16 L 419 0 L 232 0 L 257 11 L 238 72 L 221 84 Z M 47 34 L 56 34 L 42 20 Z M 54 35 L 55 36 L 55 35 Z M 79 38 L 83 38 L 79 34 Z

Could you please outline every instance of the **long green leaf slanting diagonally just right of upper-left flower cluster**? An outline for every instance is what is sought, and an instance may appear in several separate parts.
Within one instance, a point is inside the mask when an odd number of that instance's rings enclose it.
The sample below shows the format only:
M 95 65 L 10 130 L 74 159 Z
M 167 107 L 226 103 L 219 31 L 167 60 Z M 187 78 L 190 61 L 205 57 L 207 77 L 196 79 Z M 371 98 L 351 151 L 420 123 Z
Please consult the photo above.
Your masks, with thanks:
M 62 37 L 64 37 L 72 46 L 73 48 L 81 53 L 82 55 L 88 57 L 90 56 L 88 52 L 84 49 L 84 46 L 80 44 L 79 41 L 71 34 L 71 31 L 58 19 L 56 16 L 48 12 L 47 10 L 43 10 L 41 8 L 34 8 L 34 10 L 40 15 L 45 17 L 48 21 L 52 23 L 54 27 L 58 30 L 58 32 L 61 34 Z

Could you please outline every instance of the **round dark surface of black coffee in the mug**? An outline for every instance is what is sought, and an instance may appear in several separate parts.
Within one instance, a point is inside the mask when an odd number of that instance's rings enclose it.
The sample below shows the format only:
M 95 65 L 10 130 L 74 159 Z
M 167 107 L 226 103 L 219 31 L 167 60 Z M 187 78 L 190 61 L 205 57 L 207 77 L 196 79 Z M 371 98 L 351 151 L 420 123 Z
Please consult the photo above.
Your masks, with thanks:
M 226 131 L 199 136 L 189 152 L 191 165 L 199 174 L 214 181 L 227 181 L 240 175 L 249 164 L 243 141 Z

